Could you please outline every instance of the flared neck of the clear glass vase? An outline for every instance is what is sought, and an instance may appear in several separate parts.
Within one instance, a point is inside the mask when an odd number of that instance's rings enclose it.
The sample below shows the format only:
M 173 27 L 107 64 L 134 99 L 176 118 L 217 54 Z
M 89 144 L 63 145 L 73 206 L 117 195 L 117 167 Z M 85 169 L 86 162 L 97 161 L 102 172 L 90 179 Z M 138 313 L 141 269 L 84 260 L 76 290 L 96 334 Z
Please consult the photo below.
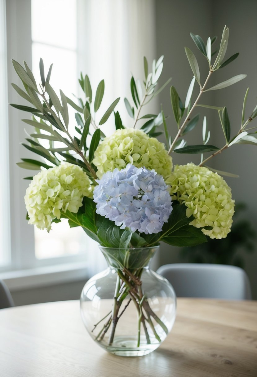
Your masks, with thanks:
M 151 258 L 159 246 L 140 248 L 112 248 L 99 246 L 110 267 L 124 270 L 124 268 L 138 269 L 148 267 Z

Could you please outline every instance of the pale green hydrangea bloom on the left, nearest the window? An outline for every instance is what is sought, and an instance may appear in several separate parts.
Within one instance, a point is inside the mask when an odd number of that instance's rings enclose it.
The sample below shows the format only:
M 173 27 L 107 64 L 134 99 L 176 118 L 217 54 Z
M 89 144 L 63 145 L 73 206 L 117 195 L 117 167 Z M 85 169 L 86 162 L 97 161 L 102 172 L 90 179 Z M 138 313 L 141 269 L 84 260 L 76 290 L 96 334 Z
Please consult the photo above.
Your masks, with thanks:
M 24 197 L 29 224 L 49 231 L 52 220 L 60 219 L 60 210 L 78 212 L 83 196 L 92 197 L 92 187 L 81 167 L 62 162 L 41 170 L 33 177 Z

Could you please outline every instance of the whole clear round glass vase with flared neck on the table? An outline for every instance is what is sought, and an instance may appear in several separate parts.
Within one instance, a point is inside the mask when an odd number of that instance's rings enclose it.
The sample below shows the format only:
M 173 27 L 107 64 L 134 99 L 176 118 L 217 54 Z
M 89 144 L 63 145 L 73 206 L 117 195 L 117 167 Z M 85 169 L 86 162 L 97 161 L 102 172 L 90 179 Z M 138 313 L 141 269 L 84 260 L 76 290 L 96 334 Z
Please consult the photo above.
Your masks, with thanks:
M 81 317 L 93 340 L 112 354 L 147 355 L 174 324 L 174 290 L 148 268 L 158 248 L 100 247 L 109 267 L 84 286 Z

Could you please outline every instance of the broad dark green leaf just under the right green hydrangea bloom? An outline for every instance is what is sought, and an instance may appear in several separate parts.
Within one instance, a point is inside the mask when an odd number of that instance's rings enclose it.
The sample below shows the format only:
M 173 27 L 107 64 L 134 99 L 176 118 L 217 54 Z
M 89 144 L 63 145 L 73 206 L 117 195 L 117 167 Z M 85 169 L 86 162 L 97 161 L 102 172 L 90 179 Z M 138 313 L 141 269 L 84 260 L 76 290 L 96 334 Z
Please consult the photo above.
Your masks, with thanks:
M 173 246 L 193 246 L 207 242 L 206 236 L 199 229 L 189 223 L 193 217 L 187 218 L 184 204 L 174 205 L 167 223 L 162 227 L 159 241 Z

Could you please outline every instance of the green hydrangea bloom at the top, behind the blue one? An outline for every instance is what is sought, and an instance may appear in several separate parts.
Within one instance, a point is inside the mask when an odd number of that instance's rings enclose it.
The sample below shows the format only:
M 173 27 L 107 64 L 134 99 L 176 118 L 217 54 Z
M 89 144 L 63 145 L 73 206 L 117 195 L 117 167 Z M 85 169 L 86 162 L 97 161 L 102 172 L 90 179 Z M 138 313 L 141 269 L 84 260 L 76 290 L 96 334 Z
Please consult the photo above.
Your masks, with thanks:
M 99 178 L 115 168 L 123 169 L 130 163 L 136 167 L 155 169 L 164 179 L 171 174 L 172 158 L 163 143 L 150 138 L 142 130 L 118 129 L 102 141 L 95 151 L 93 164 Z

